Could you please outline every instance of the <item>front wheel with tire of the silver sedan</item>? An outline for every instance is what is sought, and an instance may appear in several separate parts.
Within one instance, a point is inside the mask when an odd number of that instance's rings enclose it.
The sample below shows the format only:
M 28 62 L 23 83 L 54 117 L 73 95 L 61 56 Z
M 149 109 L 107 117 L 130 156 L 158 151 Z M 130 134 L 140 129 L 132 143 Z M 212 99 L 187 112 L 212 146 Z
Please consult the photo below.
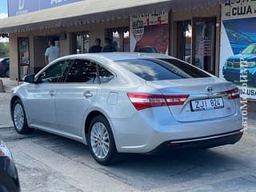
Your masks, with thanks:
M 34 131 L 34 129 L 27 125 L 26 113 L 21 100 L 17 99 L 14 102 L 11 115 L 14 122 L 14 128 L 18 134 L 31 134 Z

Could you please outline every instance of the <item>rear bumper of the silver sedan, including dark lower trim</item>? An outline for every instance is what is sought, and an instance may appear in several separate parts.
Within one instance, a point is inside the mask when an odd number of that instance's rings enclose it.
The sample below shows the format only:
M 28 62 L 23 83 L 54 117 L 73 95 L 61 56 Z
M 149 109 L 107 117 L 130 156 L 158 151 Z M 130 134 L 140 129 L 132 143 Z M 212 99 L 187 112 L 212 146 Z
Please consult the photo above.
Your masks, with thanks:
M 242 130 L 242 114 L 237 113 L 225 118 L 213 118 L 195 122 L 177 122 L 166 115 L 165 107 L 141 111 L 128 119 L 110 119 L 115 144 L 120 153 L 146 154 L 171 143 L 176 146 L 222 146 L 238 142 L 239 139 L 226 142 L 221 138 L 233 138 L 231 135 Z M 215 139 L 216 138 L 216 139 Z M 219 139 L 217 139 L 219 138 Z M 217 141 L 217 142 L 216 142 Z M 211 143 L 213 142 L 213 143 Z M 182 143 L 184 145 L 182 145 Z M 186 144 L 186 145 L 185 145 Z

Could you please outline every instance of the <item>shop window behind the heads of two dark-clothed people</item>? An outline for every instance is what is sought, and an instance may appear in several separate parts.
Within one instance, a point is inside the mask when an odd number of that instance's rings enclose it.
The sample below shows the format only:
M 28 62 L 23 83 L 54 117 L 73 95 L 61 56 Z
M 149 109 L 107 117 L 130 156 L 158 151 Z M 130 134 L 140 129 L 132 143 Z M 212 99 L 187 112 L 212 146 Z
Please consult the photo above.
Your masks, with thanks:
M 106 38 L 112 39 L 112 46 L 114 46 L 118 52 L 130 51 L 130 34 L 128 26 L 107 29 Z

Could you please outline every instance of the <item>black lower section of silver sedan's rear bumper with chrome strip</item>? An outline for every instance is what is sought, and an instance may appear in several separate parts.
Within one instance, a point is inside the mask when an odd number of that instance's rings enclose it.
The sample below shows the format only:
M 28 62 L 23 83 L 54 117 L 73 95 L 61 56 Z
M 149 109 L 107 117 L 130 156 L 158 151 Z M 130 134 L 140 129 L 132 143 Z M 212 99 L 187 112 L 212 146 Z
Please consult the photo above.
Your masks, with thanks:
M 243 133 L 244 130 L 242 129 L 225 134 L 210 135 L 209 137 L 167 141 L 147 154 L 155 154 L 165 150 L 181 150 L 188 148 L 207 149 L 215 146 L 234 144 L 242 138 Z

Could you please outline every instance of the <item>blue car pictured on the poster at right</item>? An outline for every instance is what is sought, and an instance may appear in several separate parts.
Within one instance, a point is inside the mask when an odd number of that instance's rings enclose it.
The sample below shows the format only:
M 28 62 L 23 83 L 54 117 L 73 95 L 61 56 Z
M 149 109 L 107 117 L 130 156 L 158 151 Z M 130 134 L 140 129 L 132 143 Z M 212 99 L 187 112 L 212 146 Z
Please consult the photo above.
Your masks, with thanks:
M 227 58 L 222 74 L 227 81 L 240 82 L 242 70 L 246 70 L 248 84 L 256 87 L 256 43 L 247 46 L 241 54 Z

